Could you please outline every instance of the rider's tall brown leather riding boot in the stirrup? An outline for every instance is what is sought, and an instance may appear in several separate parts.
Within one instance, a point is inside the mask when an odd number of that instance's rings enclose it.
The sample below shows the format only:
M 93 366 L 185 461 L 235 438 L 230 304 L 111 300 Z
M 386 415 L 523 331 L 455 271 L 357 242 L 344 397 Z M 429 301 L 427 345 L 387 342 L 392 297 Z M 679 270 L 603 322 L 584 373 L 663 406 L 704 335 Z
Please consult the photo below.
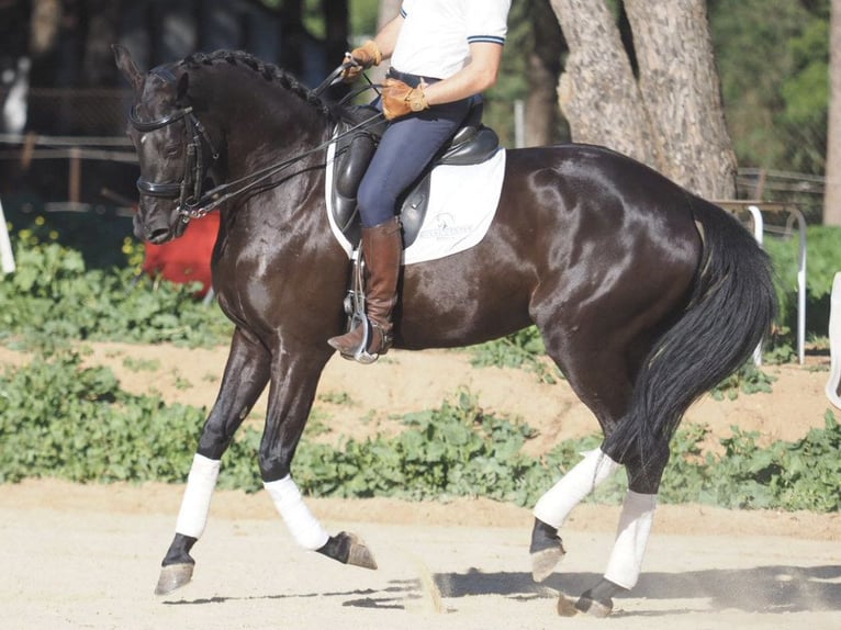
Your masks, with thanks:
M 391 348 L 391 312 L 397 302 L 397 278 L 403 239 L 400 220 L 394 218 L 362 228 L 362 255 L 366 265 L 366 315 L 373 330 L 367 351 L 384 355 Z M 362 346 L 365 326 L 330 338 L 327 342 L 347 357 L 354 357 Z

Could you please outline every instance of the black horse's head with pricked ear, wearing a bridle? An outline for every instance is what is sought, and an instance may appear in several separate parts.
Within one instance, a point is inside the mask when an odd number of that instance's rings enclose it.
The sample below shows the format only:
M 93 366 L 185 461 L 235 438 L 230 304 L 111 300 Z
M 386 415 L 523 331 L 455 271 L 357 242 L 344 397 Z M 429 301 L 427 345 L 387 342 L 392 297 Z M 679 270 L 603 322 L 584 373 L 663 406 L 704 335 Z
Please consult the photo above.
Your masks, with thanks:
M 183 67 L 169 64 L 144 75 L 126 48 L 113 49 L 134 90 L 127 127 L 141 167 L 134 233 L 149 243 L 166 243 L 187 228 L 218 154 L 193 113 L 190 75 Z

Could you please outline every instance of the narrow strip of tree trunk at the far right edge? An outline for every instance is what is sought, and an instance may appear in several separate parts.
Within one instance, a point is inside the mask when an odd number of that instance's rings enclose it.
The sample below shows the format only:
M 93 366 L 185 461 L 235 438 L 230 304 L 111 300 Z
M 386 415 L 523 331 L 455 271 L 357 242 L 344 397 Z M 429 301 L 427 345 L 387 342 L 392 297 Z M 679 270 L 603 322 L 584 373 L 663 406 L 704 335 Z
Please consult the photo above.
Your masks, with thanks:
M 832 0 L 829 33 L 829 83 L 823 224 L 841 225 L 841 0 Z

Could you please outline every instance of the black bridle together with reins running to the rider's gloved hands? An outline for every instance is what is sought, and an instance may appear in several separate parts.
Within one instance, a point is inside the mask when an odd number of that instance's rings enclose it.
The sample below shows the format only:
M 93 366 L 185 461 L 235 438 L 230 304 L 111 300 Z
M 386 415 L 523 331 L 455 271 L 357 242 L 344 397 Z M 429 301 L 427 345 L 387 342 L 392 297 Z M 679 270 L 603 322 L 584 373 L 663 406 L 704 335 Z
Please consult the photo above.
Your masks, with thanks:
M 313 90 L 316 97 L 340 80 L 343 71 L 346 69 L 346 64 L 343 64 L 336 68 L 327 79 Z M 370 89 L 369 86 L 365 89 Z M 354 95 L 358 93 L 355 92 Z M 344 102 L 346 99 L 343 99 Z M 220 205 L 228 201 L 229 199 L 248 192 L 249 190 L 260 185 L 267 179 L 278 175 L 284 169 L 293 166 L 294 164 L 303 160 L 304 158 L 326 149 L 330 144 L 337 143 L 345 137 L 363 130 L 382 119 L 382 114 L 375 114 L 362 122 L 345 130 L 330 137 L 330 139 L 307 149 L 291 158 L 281 160 L 273 165 L 269 165 L 260 170 L 249 173 L 240 179 L 220 184 L 206 192 L 202 192 L 202 182 L 204 180 L 204 173 L 206 168 L 204 167 L 204 148 L 209 149 L 213 161 L 216 161 L 220 157 L 220 153 L 213 146 L 213 142 L 210 138 L 204 125 L 193 113 L 192 106 L 182 108 L 173 113 L 157 119 L 155 121 L 142 121 L 137 117 L 136 105 L 128 112 L 128 120 L 138 132 L 154 132 L 166 126 L 169 126 L 178 121 L 184 122 L 184 136 L 190 138 L 187 144 L 187 150 L 184 151 L 184 168 L 183 177 L 179 182 L 152 182 L 143 177 L 137 179 L 137 189 L 143 194 L 149 196 L 157 196 L 164 199 L 178 199 L 178 214 L 183 223 L 189 223 L 193 218 L 201 218 L 210 212 L 216 210 Z M 192 193 L 189 192 L 189 184 L 187 173 L 193 171 Z M 247 183 L 245 183 L 247 182 Z

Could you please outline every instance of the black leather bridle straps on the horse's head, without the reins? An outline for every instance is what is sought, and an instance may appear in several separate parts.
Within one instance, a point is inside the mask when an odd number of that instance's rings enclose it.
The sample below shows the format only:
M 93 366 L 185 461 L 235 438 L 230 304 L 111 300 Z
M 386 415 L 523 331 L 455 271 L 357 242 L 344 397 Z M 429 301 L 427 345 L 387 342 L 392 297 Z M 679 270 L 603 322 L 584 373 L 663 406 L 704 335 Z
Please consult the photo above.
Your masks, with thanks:
M 181 181 L 161 183 L 148 181 L 141 176 L 137 179 L 137 190 L 149 196 L 178 199 L 178 214 L 184 223 L 188 223 L 191 218 L 200 217 L 203 213 L 201 210 L 198 210 L 197 206 L 202 198 L 202 181 L 204 180 L 206 170 L 204 167 L 205 145 L 213 161 L 218 159 L 218 151 L 213 146 L 204 125 L 202 125 L 199 119 L 195 117 L 195 114 L 193 114 L 192 106 L 176 110 L 168 116 L 155 121 L 142 121 L 137 117 L 137 106 L 135 105 L 128 112 L 128 121 L 135 130 L 143 133 L 154 132 L 167 127 L 178 121 L 183 121 L 184 137 L 188 139 L 187 149 L 184 150 L 184 168 Z M 187 178 L 190 171 L 193 173 L 192 193 L 190 192 L 191 187 Z

